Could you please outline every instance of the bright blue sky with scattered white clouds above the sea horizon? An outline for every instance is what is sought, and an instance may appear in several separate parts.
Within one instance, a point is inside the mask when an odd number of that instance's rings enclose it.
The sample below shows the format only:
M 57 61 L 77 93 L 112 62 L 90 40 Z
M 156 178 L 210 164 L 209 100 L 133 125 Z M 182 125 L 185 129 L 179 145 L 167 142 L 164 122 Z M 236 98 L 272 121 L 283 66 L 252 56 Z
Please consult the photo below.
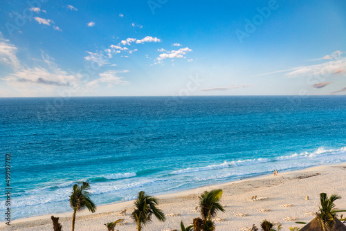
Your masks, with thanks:
M 345 94 L 344 0 L 0 0 L 0 97 Z

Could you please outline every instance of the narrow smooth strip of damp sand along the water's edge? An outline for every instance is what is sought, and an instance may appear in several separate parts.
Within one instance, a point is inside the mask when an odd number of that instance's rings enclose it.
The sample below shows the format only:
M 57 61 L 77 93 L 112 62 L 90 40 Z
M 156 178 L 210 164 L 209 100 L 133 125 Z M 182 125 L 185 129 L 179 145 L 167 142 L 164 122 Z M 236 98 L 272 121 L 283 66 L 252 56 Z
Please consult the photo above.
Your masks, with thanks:
M 320 170 L 324 169 L 324 168 L 328 168 L 331 166 L 345 166 L 346 163 L 331 163 L 329 165 L 317 165 L 317 166 L 313 166 L 313 167 L 307 167 L 304 169 L 298 169 L 298 170 L 293 170 L 293 171 L 286 171 L 286 172 L 279 172 L 278 176 L 273 176 L 272 174 L 265 174 L 265 175 L 260 175 L 260 176 L 254 176 L 254 177 L 249 177 L 249 178 L 243 178 L 242 180 L 239 181 L 230 181 L 227 183 L 221 183 L 221 184 L 212 184 L 212 185 L 206 185 L 203 187 L 197 187 L 194 189 L 190 189 L 190 190 L 182 190 L 180 192 L 173 192 L 173 193 L 169 193 L 169 194 L 156 194 L 153 196 L 156 196 L 156 198 L 160 199 L 160 201 L 167 201 L 167 200 L 172 200 L 174 198 L 178 198 L 178 197 L 186 197 L 186 196 L 191 196 L 191 195 L 196 195 L 196 194 L 200 194 L 201 192 L 204 192 L 205 190 L 212 190 L 215 188 L 224 188 L 224 187 L 230 187 L 231 185 L 240 185 L 240 184 L 244 184 L 248 181 L 265 181 L 268 179 L 278 179 L 278 178 L 282 178 L 282 177 L 289 177 L 289 176 L 294 176 L 297 174 L 304 174 L 307 172 L 320 172 Z M 298 180 L 299 181 L 299 180 Z M 83 210 L 82 212 L 79 212 L 77 214 L 78 218 L 84 217 L 84 216 L 97 216 L 97 215 L 102 215 L 102 214 L 107 214 L 110 212 L 117 212 L 120 210 L 124 210 L 125 208 L 129 209 L 133 207 L 133 202 L 134 200 L 131 201 L 123 201 L 123 202 L 114 202 L 114 203 L 110 203 L 107 205 L 100 205 L 97 207 L 97 210 L 95 213 L 91 213 L 88 210 Z M 27 223 L 30 221 L 42 221 L 42 220 L 51 220 L 51 216 L 58 216 L 60 218 L 71 218 L 72 216 L 72 211 L 71 212 L 64 212 L 64 213 L 59 213 L 59 214 L 46 214 L 46 215 L 41 215 L 41 216 L 32 216 L 32 217 L 28 217 L 28 218 L 24 218 L 24 219 L 16 219 L 14 221 L 11 221 L 11 225 L 15 225 L 18 223 Z M 4 226 L 6 226 L 5 222 L 1 222 L 0 223 L 0 228 L 3 228 Z

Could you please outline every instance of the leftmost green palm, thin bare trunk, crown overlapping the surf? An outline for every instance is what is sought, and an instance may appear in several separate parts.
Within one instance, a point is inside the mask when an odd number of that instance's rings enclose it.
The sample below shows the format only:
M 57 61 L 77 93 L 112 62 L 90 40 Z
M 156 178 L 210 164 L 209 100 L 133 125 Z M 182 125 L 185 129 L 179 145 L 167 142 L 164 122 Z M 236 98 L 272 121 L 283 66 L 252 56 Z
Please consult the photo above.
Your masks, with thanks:
M 80 212 L 87 208 L 90 212 L 96 211 L 96 205 L 91 201 L 90 193 L 90 185 L 86 182 L 83 182 L 82 185 L 73 185 L 72 192 L 70 195 L 70 206 L 73 208 L 72 215 L 72 231 L 75 230 L 75 213 Z

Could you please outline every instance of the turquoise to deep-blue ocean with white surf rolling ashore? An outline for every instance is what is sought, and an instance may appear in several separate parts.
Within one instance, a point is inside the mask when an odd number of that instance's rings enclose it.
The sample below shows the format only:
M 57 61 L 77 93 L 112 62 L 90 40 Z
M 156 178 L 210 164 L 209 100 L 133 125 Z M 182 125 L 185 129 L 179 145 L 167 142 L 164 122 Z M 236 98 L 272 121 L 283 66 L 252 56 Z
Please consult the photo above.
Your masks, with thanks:
M 81 181 L 101 205 L 343 162 L 345 118 L 345 96 L 0 98 L 0 147 L 18 219 L 70 210 Z

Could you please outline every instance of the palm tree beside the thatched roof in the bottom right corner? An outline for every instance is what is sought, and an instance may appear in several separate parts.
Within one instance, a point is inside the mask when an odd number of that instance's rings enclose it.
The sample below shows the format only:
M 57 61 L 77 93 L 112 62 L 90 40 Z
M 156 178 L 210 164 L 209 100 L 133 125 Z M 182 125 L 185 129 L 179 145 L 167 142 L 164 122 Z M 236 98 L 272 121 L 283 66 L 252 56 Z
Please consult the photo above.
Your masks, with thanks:
M 316 219 L 320 223 L 322 230 L 328 231 L 333 228 L 335 224 L 336 212 L 345 212 L 346 210 L 334 210 L 334 201 L 340 199 L 341 196 L 332 194 L 329 198 L 327 194 L 322 192 L 320 194 L 320 207 L 316 213 Z

